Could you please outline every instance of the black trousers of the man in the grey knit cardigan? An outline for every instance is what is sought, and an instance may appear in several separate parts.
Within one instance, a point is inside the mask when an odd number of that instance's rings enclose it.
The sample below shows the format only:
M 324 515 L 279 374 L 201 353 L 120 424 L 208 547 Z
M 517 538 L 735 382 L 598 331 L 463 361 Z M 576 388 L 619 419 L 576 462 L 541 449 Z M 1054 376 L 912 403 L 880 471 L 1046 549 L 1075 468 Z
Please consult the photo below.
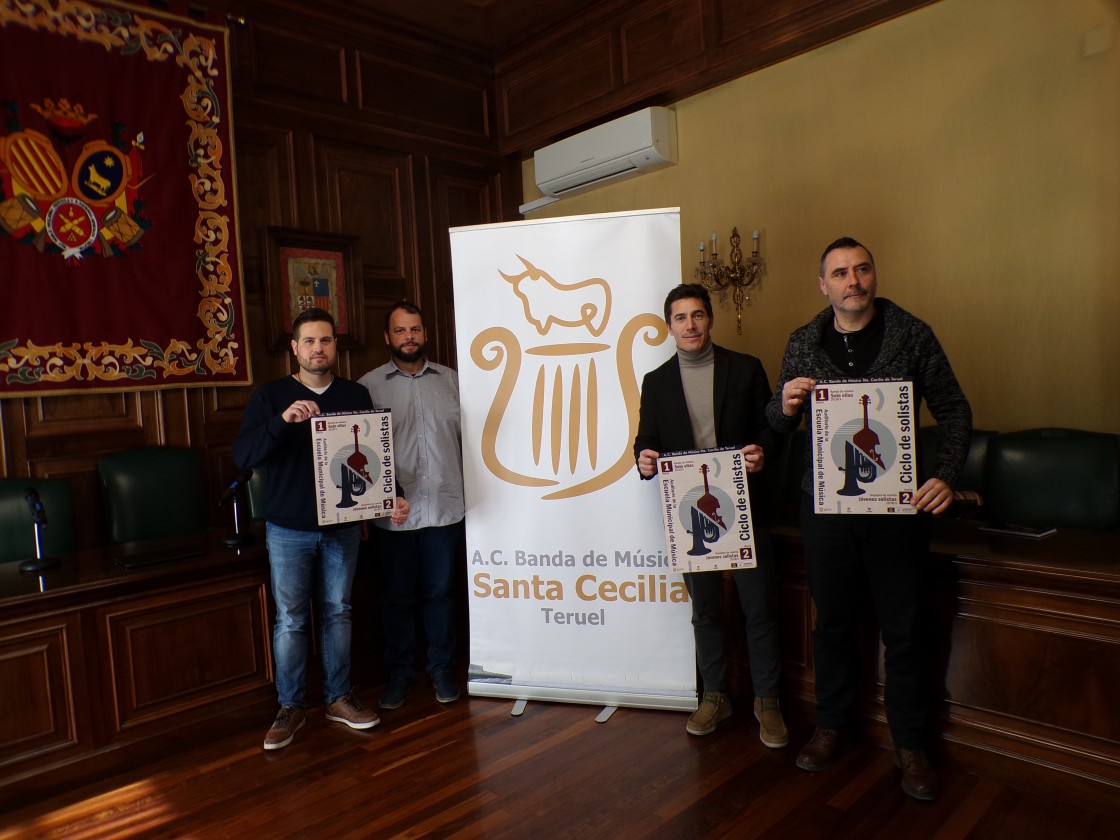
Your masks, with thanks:
M 930 707 L 926 599 L 930 517 L 815 514 L 802 494 L 805 572 L 816 607 L 816 725 L 842 729 L 859 697 L 858 633 L 868 588 L 886 652 L 887 725 L 899 749 L 921 749 Z

